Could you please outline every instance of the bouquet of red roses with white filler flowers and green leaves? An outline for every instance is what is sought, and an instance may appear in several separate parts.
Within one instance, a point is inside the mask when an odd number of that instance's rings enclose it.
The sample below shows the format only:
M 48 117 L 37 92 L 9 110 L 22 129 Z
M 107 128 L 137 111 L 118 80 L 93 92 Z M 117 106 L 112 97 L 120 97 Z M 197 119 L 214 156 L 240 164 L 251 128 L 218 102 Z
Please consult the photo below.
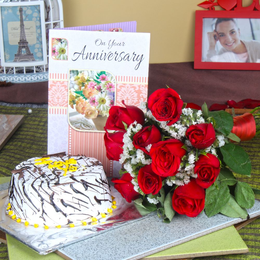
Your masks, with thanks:
M 220 212 L 246 218 L 254 192 L 233 172 L 250 176 L 251 162 L 234 142 L 254 137 L 255 118 L 247 113 L 233 119 L 206 104 L 192 107 L 167 88 L 149 96 L 146 114 L 128 105 L 109 110 L 107 157 L 124 167 L 121 178 L 112 179 L 115 189 L 141 213 L 157 210 L 164 222 L 175 212 L 196 217 L 204 209 L 208 217 Z

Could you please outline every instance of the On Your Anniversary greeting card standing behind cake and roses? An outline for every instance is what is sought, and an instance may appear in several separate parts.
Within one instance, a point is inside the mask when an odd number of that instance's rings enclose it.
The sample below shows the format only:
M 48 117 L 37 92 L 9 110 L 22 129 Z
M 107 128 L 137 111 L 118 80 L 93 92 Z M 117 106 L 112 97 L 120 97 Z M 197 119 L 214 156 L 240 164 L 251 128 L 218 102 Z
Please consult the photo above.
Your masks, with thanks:
M 49 42 L 48 153 L 94 157 L 112 176 L 103 127 L 111 106 L 146 101 L 150 34 L 61 29 Z

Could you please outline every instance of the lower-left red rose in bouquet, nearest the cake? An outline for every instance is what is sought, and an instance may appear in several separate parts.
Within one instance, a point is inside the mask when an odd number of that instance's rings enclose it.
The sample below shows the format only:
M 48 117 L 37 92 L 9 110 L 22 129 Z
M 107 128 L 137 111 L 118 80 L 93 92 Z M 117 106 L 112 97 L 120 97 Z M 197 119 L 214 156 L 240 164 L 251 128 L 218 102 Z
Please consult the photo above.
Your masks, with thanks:
M 134 185 L 131 183 L 133 177 L 127 172 L 120 179 L 113 178 L 111 181 L 115 184 L 114 187 L 127 202 L 131 202 L 139 197 L 139 193 L 134 190 Z

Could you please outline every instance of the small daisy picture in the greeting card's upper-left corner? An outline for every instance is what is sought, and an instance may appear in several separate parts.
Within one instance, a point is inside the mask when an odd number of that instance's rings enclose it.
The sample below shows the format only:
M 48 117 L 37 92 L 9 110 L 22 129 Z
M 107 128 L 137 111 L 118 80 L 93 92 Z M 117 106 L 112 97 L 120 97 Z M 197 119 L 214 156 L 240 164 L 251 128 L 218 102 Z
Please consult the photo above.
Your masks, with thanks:
M 64 38 L 51 38 L 51 57 L 54 60 L 68 60 L 68 40 Z

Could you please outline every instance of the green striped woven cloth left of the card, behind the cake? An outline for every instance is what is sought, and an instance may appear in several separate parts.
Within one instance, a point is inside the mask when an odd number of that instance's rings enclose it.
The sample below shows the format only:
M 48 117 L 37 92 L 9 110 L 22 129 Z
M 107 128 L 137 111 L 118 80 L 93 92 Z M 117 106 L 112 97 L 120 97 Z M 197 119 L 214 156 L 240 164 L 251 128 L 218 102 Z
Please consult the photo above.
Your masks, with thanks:
M 11 176 L 20 162 L 47 153 L 47 108 L 0 106 L 0 114 L 24 115 L 25 120 L 0 151 L 0 177 Z

